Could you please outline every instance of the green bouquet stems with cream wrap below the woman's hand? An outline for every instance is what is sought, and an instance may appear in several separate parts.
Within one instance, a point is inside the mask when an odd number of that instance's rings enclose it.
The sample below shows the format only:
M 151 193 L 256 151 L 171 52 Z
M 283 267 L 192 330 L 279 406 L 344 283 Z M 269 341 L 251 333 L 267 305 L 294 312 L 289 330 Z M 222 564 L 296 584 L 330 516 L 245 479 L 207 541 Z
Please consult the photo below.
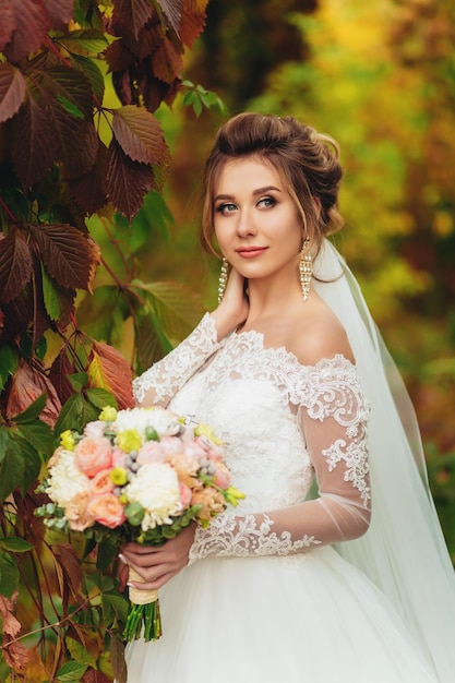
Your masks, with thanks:
M 129 580 L 142 583 L 142 577 L 129 567 Z M 124 625 L 123 638 L 135 640 L 143 635 L 144 640 L 157 640 L 163 633 L 161 618 L 159 614 L 159 600 L 157 590 L 141 590 L 130 586 L 130 610 Z

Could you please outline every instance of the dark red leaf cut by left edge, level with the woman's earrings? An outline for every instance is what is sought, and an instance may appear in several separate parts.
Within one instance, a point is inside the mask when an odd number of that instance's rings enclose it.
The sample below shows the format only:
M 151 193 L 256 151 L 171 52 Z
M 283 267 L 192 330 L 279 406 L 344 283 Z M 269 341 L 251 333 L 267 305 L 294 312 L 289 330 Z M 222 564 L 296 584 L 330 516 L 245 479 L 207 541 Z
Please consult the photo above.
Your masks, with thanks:
M 0 303 L 15 299 L 32 277 L 32 254 L 19 230 L 0 240 Z

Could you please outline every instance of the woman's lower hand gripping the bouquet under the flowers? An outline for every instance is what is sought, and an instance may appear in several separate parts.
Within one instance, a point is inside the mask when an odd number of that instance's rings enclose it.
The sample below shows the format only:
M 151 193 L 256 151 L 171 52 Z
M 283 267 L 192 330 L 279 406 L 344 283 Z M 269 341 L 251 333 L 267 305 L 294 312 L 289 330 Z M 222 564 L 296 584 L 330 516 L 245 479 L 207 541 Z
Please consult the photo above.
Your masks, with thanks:
M 144 582 L 134 582 L 135 588 L 143 590 L 158 590 L 176 576 L 188 564 L 190 548 L 194 541 L 195 525 L 191 524 L 176 538 L 164 546 L 141 546 L 125 543 L 120 560 L 123 563 L 119 571 L 120 587 L 128 580 L 128 566 L 133 567 Z

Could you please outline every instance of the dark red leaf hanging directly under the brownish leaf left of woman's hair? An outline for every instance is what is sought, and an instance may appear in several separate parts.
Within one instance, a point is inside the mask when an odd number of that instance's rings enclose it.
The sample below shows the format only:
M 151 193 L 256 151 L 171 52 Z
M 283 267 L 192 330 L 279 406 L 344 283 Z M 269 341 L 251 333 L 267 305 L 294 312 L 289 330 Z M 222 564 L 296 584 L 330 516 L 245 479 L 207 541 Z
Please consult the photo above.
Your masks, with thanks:
M 146 164 L 130 159 L 117 141 L 112 140 L 108 152 L 105 189 L 115 207 L 128 218 L 132 218 L 154 185 L 153 169 Z

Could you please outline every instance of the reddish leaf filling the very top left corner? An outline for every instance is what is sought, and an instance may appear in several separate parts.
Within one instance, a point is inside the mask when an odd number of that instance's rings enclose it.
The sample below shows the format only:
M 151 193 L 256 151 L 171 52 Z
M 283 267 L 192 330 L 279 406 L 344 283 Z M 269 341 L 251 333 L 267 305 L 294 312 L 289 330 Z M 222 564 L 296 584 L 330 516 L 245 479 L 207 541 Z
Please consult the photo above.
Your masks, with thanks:
M 11 62 L 17 63 L 43 45 L 51 22 L 44 0 L 10 0 L 10 2 L 2 0 L 0 2 L 1 25 L 7 5 L 9 5 L 5 12 L 7 31 L 4 35 L 3 31 L 0 32 L 0 51 Z

